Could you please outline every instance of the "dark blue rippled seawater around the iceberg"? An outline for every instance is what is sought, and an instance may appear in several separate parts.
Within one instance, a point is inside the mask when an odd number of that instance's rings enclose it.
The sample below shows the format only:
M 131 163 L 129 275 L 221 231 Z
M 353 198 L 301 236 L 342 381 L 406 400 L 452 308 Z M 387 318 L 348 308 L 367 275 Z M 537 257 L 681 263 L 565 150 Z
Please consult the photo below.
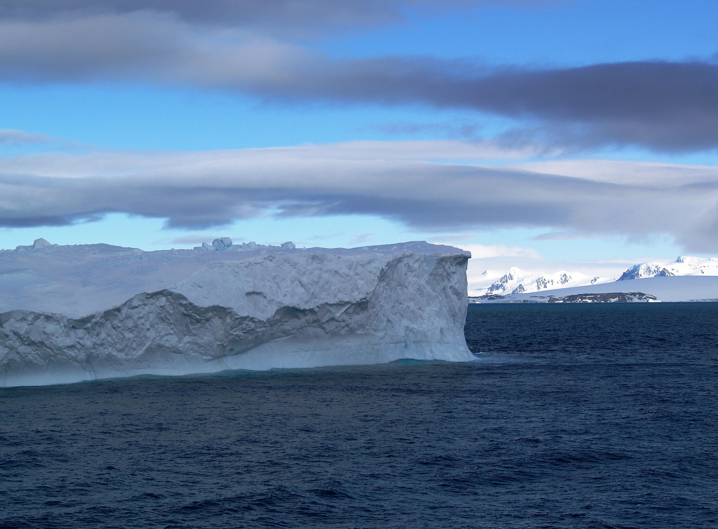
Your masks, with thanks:
M 718 303 L 466 334 L 478 362 L 1 389 L 0 526 L 718 527 Z

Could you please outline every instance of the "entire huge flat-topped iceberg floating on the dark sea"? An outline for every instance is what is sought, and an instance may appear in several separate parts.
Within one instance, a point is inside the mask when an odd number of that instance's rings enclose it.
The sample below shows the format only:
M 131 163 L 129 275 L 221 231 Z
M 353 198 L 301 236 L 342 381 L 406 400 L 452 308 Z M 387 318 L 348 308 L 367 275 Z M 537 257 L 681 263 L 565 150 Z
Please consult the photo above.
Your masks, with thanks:
M 467 361 L 460 249 L 107 244 L 0 251 L 0 385 Z

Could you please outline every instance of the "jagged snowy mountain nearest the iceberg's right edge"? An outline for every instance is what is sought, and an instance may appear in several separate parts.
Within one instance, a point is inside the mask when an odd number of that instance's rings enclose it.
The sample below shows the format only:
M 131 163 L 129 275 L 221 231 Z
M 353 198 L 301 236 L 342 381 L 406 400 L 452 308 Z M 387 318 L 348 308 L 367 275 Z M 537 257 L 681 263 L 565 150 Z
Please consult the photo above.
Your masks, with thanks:
M 596 285 L 614 281 L 615 277 L 588 276 L 582 272 L 526 272 L 517 267 L 510 267 L 508 272 L 497 280 L 492 280 L 490 272 L 483 274 L 485 280 L 471 285 L 472 295 L 485 294 L 521 294 L 526 292 L 538 292 L 540 290 L 552 290 L 554 288 L 578 287 L 582 285 Z

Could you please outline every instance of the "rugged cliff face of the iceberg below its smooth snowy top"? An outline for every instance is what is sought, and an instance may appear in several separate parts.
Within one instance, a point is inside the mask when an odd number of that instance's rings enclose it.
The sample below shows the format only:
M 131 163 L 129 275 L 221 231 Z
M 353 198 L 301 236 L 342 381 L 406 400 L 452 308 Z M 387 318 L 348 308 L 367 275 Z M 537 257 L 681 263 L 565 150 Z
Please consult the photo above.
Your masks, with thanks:
M 470 361 L 463 332 L 468 255 L 425 245 L 443 251 L 289 249 L 208 262 L 167 289 L 87 316 L 6 311 L 0 385 Z

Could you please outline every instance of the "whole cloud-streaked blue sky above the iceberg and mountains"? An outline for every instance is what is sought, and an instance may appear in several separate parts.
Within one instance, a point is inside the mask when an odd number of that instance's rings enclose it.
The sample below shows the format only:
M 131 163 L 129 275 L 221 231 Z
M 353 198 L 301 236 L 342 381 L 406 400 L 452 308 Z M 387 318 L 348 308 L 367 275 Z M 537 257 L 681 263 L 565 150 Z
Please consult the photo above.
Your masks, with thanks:
M 715 1 L 0 0 L 0 248 L 718 255 Z M 590 273 L 589 270 L 589 273 Z

